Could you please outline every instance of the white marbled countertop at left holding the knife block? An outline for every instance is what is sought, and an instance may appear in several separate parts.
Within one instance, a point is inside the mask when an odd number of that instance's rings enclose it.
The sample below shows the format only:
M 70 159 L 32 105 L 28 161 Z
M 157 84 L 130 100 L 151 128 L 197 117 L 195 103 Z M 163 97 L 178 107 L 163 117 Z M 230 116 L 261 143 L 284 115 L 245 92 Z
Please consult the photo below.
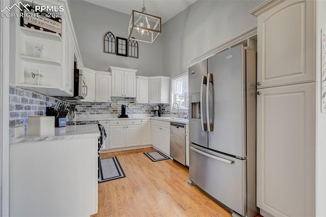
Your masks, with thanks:
M 100 131 L 97 124 L 71 125 L 65 127 L 56 127 L 55 134 L 49 135 L 23 135 L 18 138 L 10 138 L 9 143 L 30 143 L 52 140 L 71 140 L 80 138 L 99 137 Z

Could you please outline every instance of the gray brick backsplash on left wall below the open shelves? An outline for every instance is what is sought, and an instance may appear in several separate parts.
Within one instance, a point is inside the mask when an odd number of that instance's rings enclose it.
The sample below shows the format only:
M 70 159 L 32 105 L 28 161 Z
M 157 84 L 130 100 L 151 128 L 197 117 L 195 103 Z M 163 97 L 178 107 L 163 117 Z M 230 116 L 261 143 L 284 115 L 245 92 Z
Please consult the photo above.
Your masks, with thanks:
M 61 101 L 31 90 L 9 87 L 9 127 L 27 125 L 28 117 L 45 115 L 46 107 Z

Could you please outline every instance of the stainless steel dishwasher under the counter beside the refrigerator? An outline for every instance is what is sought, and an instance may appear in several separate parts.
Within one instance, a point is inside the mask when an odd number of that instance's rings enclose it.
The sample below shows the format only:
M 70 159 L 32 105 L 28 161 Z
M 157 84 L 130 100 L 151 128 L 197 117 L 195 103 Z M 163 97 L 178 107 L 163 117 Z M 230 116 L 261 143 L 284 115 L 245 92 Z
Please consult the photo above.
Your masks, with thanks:
M 170 124 L 170 156 L 185 165 L 185 124 Z

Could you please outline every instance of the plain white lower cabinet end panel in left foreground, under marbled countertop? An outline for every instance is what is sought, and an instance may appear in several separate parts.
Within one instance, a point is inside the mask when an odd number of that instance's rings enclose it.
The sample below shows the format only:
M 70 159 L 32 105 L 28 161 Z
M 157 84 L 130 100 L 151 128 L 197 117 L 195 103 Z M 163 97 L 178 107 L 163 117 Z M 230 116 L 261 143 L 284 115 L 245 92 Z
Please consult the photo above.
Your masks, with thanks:
M 11 216 L 97 212 L 97 137 L 17 143 L 10 148 Z

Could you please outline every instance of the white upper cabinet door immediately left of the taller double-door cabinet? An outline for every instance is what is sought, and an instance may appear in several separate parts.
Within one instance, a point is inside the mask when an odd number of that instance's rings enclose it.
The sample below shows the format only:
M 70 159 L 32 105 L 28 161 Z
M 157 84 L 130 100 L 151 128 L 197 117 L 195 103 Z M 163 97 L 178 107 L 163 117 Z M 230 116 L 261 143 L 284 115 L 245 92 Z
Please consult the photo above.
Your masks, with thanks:
M 111 102 L 111 74 L 97 71 L 95 78 L 95 101 Z

